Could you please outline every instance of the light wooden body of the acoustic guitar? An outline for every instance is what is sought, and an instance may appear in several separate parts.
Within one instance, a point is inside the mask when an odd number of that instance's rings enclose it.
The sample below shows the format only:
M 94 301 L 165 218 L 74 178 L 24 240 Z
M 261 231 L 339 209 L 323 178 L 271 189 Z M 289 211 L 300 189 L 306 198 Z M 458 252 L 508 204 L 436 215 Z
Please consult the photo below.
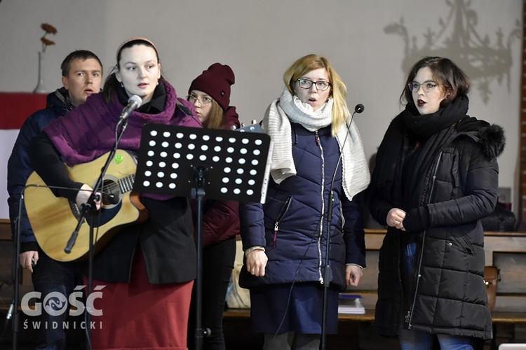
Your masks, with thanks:
M 95 186 L 102 167 L 108 158 L 105 153 L 91 162 L 68 167 L 69 176 L 77 182 Z M 111 203 L 93 214 L 93 244 L 95 252 L 126 225 L 139 223 L 147 219 L 147 210 L 139 201 L 137 193 L 131 193 L 137 164 L 133 155 L 122 150 L 116 151 L 104 176 L 103 192 L 111 190 L 114 195 Z M 55 197 L 41 177 L 33 172 L 27 179 L 25 189 L 25 207 L 36 241 L 50 258 L 59 261 L 72 261 L 88 258 L 90 226 L 84 221 L 79 235 L 70 253 L 65 247 L 72 232 L 79 223 L 80 209 L 74 202 L 64 197 Z M 104 198 L 104 196 L 103 196 Z M 88 214 L 89 216 L 90 214 Z

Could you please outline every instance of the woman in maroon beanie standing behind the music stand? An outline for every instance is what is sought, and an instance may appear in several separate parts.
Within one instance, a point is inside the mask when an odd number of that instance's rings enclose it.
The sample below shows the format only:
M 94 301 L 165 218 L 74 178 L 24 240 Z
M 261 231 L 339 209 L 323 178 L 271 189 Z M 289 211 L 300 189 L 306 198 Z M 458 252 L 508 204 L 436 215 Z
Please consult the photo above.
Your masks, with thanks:
M 194 104 L 203 127 L 232 130 L 240 127 L 236 107 L 230 104 L 230 85 L 234 72 L 215 63 L 191 82 L 187 100 Z M 194 221 L 196 206 L 194 205 Z M 196 223 L 194 228 L 196 228 Z M 225 349 L 223 336 L 224 300 L 234 268 L 236 239 L 239 233 L 238 202 L 206 200 L 203 204 L 203 283 L 202 323 L 210 329 L 203 338 L 203 349 Z M 194 293 L 195 296 L 195 293 Z M 191 312 L 194 316 L 194 312 Z M 189 332 L 193 332 L 189 323 Z M 188 337 L 189 342 L 194 337 Z M 189 344 L 189 348 L 193 348 Z

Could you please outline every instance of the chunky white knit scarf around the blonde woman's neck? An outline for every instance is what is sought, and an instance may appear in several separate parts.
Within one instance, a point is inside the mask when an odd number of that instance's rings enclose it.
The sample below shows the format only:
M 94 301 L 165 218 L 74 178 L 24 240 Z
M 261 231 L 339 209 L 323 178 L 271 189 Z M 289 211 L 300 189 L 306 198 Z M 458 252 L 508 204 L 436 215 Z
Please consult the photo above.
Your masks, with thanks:
M 274 144 L 272 153 L 271 176 L 276 183 L 296 174 L 292 158 L 290 141 L 290 121 L 299 123 L 311 132 L 327 127 L 332 123 L 333 99 L 329 99 L 320 109 L 313 111 L 312 106 L 304 104 L 297 97 L 292 97 L 287 87 L 281 97 L 271 103 L 263 118 L 263 129 L 270 135 Z M 347 125 L 342 125 L 336 134 L 342 156 L 343 188 L 345 195 L 352 200 L 354 195 L 367 188 L 370 181 L 369 166 L 363 151 L 362 139 L 358 128 L 352 123 L 347 135 Z M 342 151 L 342 144 L 344 150 Z

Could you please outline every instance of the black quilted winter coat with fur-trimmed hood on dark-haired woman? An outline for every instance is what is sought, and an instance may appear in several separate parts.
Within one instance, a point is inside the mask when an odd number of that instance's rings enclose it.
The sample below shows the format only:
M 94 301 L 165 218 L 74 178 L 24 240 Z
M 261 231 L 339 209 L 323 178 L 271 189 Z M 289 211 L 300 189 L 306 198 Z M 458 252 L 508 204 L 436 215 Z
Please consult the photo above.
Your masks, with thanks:
M 400 123 L 397 118 L 391 127 Z M 452 141 L 437 153 L 424 179 L 415 179 L 421 181 L 417 187 L 420 207 L 400 208 L 407 212 L 406 229 L 418 217 L 423 230 L 403 232 L 390 227 L 380 249 L 375 325 L 382 335 L 398 334 L 403 312 L 405 328 L 412 330 L 492 337 L 480 219 L 497 202 L 495 158 L 504 149 L 504 132 L 496 125 L 468 118 L 453 127 L 452 133 Z M 377 164 L 380 162 L 377 158 Z M 384 225 L 393 207 L 382 193 L 376 193 L 370 202 L 372 216 Z M 411 283 L 414 297 L 408 298 L 408 309 L 403 308 L 400 282 L 402 235 L 417 235 Z

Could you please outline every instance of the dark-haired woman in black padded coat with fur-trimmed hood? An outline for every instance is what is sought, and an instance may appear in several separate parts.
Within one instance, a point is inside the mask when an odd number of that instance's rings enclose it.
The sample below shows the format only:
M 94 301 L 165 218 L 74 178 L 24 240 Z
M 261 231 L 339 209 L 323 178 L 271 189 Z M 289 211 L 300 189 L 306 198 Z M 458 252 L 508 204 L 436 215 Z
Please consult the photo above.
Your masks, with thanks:
M 379 147 L 368 197 L 387 225 L 375 325 L 402 349 L 480 349 L 492 337 L 480 219 L 497 202 L 504 132 L 469 117 L 470 81 L 450 59 L 414 64 L 405 109 Z

